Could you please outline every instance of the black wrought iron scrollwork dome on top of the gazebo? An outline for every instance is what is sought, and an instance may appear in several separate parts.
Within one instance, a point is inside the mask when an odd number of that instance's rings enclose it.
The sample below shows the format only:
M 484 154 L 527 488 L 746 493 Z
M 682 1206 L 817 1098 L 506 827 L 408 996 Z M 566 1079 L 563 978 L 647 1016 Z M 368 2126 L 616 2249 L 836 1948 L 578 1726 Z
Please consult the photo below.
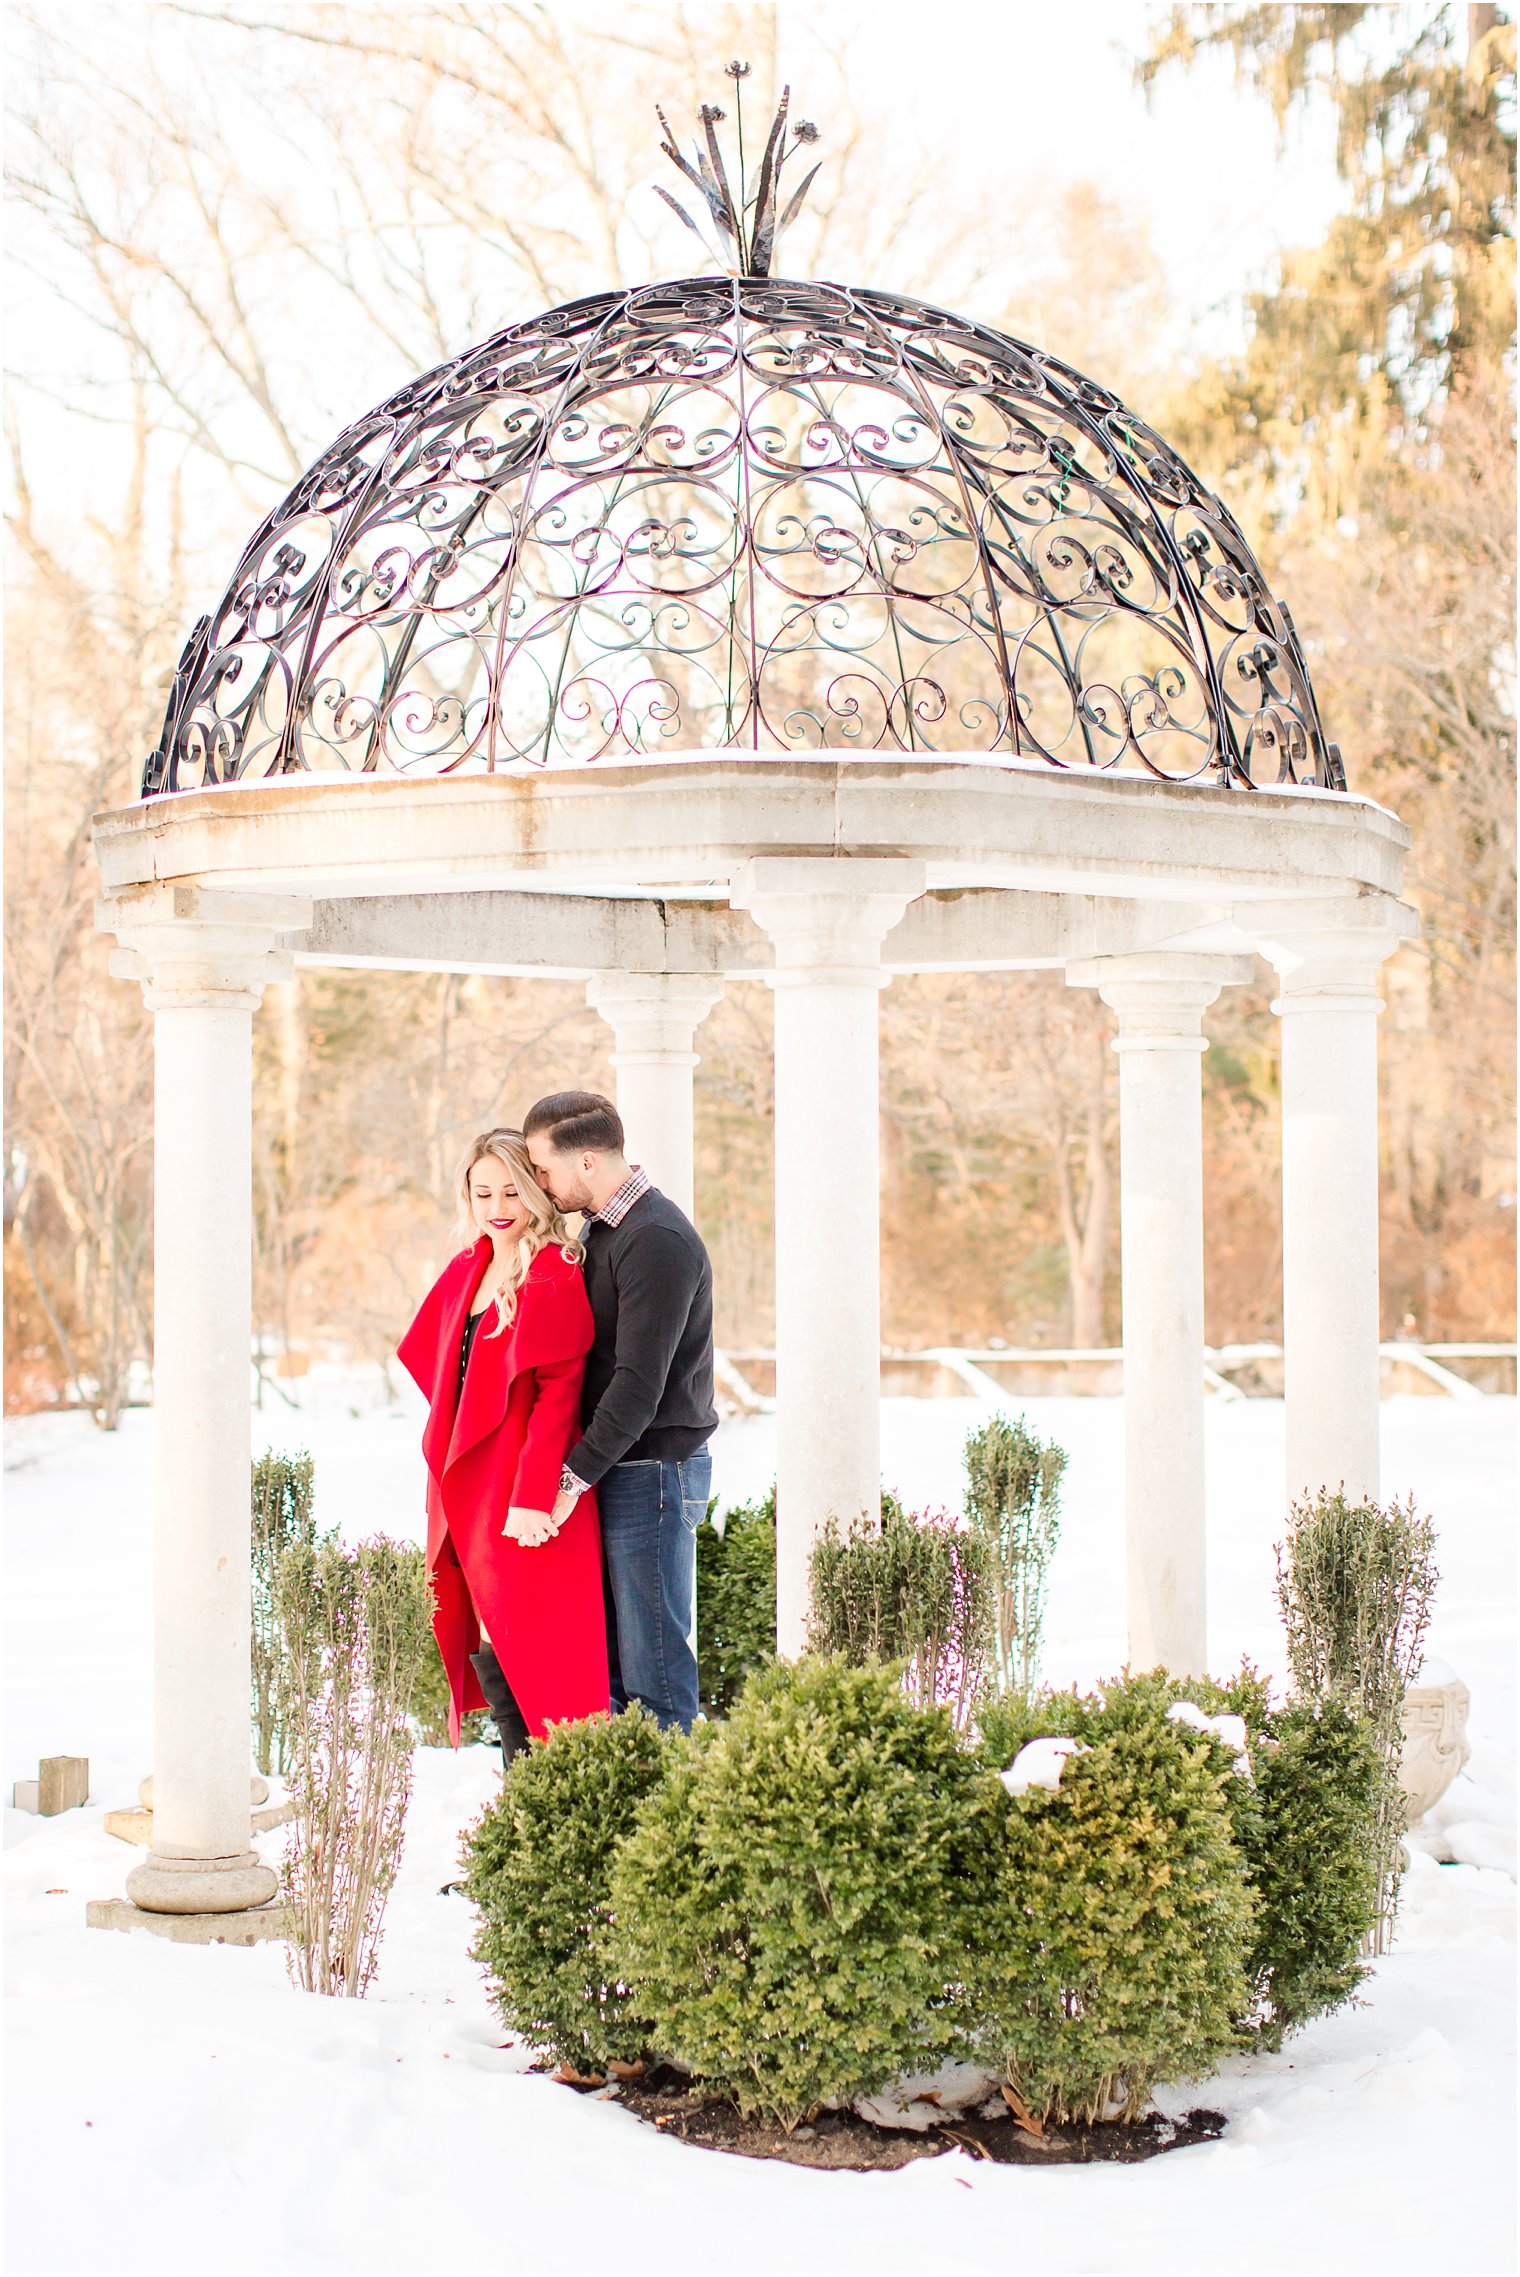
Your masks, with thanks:
M 143 797 L 692 749 L 1345 788 L 1286 606 L 1142 419 L 753 273 L 774 225 L 730 214 L 740 273 L 548 310 L 348 426 L 196 624 Z

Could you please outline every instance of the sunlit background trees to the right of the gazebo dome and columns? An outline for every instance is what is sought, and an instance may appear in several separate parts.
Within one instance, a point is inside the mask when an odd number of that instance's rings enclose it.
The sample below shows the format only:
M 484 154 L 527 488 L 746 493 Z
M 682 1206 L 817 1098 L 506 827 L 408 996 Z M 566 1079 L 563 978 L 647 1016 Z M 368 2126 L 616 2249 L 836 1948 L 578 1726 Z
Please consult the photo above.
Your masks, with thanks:
M 1388 968 L 1383 1321 L 1513 1321 L 1515 25 L 1497 7 L 1172 9 L 1154 84 L 1233 55 L 1336 116 L 1345 212 L 1251 298 L 1172 433 L 1292 601 L 1358 790 L 1413 831 Z M 1474 1323 L 1488 1323 L 1477 1327 Z M 1461 1323 L 1461 1325 L 1459 1325 Z M 1509 1334 L 1509 1330 L 1504 1330 Z

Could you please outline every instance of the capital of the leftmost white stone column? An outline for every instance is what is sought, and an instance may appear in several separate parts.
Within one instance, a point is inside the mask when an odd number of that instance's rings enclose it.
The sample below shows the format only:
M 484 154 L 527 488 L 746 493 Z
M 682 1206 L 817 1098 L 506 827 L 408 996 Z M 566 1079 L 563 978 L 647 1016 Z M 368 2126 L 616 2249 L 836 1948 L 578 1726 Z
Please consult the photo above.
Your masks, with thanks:
M 305 931 L 312 904 L 287 893 L 207 893 L 143 886 L 96 902 L 96 931 L 116 934 L 116 979 L 141 981 L 150 1011 L 253 1011 L 271 981 L 291 977 L 284 934 Z

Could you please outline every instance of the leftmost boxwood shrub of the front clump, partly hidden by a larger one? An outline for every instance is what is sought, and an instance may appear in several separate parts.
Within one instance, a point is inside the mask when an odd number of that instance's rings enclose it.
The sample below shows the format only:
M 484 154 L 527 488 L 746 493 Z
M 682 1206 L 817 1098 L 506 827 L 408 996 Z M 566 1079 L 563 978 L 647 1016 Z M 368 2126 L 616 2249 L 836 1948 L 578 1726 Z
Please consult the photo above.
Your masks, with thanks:
M 642 1708 L 555 1724 L 505 1772 L 471 1828 L 464 1888 L 480 1908 L 473 1956 L 503 2022 L 571 2070 L 637 2063 L 649 2027 L 605 1958 L 619 1838 L 667 1772 L 669 1742 Z

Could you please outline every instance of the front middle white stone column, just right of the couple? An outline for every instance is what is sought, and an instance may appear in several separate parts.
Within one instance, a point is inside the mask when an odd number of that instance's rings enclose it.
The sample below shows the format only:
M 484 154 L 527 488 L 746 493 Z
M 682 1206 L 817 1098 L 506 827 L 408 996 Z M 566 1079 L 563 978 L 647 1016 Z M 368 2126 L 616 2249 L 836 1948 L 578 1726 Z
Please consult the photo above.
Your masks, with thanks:
M 924 863 L 760 858 L 730 883 L 776 968 L 776 1649 L 828 1516 L 881 1514 L 881 945 Z

